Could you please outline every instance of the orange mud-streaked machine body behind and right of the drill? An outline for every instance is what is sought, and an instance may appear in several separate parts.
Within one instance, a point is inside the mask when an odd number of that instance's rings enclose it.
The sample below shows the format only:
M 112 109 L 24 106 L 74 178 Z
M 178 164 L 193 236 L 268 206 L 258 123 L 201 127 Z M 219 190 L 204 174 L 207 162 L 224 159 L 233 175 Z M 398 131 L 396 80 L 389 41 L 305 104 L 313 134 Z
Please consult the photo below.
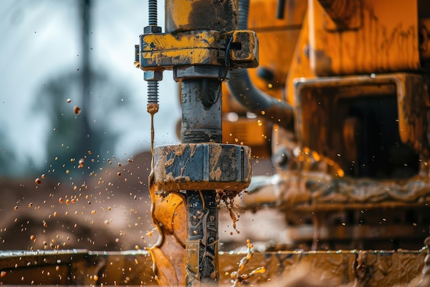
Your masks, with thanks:
M 430 224 L 425 1 L 286 1 L 278 20 L 274 7 L 251 1 L 260 66 L 249 74 L 293 107 L 294 128 L 264 115 L 276 189 L 256 187 L 245 205 L 283 209 L 302 248 L 419 248 Z

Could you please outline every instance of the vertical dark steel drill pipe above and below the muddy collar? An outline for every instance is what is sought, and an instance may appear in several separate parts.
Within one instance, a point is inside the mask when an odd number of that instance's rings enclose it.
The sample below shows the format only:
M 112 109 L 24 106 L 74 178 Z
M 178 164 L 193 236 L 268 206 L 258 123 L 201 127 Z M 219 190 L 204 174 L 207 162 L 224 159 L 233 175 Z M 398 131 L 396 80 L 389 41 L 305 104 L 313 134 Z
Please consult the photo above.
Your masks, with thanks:
M 222 142 L 220 82 L 207 79 L 182 81 L 182 143 Z M 203 91 L 205 89 L 205 91 Z M 209 99 L 203 99 L 208 97 Z M 207 104 L 211 103 L 211 104 Z M 213 103 L 213 104 L 212 104 Z M 218 208 L 216 191 L 186 191 L 188 218 L 187 286 L 218 282 Z

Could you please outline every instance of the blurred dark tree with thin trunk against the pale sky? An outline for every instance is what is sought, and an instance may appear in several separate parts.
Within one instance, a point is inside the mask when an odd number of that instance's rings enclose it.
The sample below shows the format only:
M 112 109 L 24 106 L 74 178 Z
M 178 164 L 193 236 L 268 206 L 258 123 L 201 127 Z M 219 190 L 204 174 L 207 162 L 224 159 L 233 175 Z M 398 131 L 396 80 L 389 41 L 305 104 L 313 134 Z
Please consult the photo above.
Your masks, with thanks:
M 52 125 L 47 167 L 41 173 L 54 171 L 57 177 L 89 173 L 88 166 L 91 172 L 109 156 L 106 153 L 115 147 L 118 135 L 107 126 L 106 118 L 118 108 L 125 91 L 102 69 L 91 69 L 91 0 L 76 3 L 80 6 L 81 65 L 76 71 L 49 79 L 36 96 L 36 110 L 48 114 Z M 85 160 L 84 169 L 78 168 L 80 158 Z

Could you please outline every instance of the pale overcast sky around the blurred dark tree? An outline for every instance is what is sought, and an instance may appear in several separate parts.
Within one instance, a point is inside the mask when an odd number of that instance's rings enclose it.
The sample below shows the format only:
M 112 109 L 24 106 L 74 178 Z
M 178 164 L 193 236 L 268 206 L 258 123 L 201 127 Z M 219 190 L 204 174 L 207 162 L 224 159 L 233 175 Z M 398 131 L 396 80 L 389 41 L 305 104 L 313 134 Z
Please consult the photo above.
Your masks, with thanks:
M 159 1 L 159 25 L 164 26 Z M 53 76 L 78 72 L 80 19 L 78 0 L 0 1 L 0 152 L 11 151 L 11 169 L 26 169 L 46 160 L 44 146 L 52 131 L 47 116 L 36 112 L 36 94 Z M 148 150 L 150 116 L 146 82 L 133 66 L 133 47 L 148 25 L 147 0 L 93 0 L 91 61 L 124 87 L 131 109 L 106 115 L 106 125 L 121 136 L 113 154 Z M 164 29 L 163 29 L 164 31 Z M 94 91 L 97 92 L 97 91 Z M 71 95 L 73 96 L 73 95 Z M 73 98 L 72 98 L 73 100 Z M 103 107 L 109 98 L 94 99 Z M 171 72 L 160 83 L 160 111 L 155 118 L 155 145 L 177 142 L 174 126 L 181 116 Z

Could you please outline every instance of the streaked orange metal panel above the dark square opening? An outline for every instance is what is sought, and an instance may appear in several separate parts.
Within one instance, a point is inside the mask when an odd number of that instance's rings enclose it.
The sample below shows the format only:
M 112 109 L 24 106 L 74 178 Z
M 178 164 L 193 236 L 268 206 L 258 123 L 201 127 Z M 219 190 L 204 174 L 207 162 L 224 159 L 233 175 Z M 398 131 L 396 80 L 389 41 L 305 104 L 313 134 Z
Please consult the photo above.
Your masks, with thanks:
M 319 1 L 309 1 L 313 72 L 328 76 L 418 70 L 417 1 L 407 5 L 402 0 L 361 3 L 360 28 L 344 31 L 332 30 L 336 25 L 330 23 Z

